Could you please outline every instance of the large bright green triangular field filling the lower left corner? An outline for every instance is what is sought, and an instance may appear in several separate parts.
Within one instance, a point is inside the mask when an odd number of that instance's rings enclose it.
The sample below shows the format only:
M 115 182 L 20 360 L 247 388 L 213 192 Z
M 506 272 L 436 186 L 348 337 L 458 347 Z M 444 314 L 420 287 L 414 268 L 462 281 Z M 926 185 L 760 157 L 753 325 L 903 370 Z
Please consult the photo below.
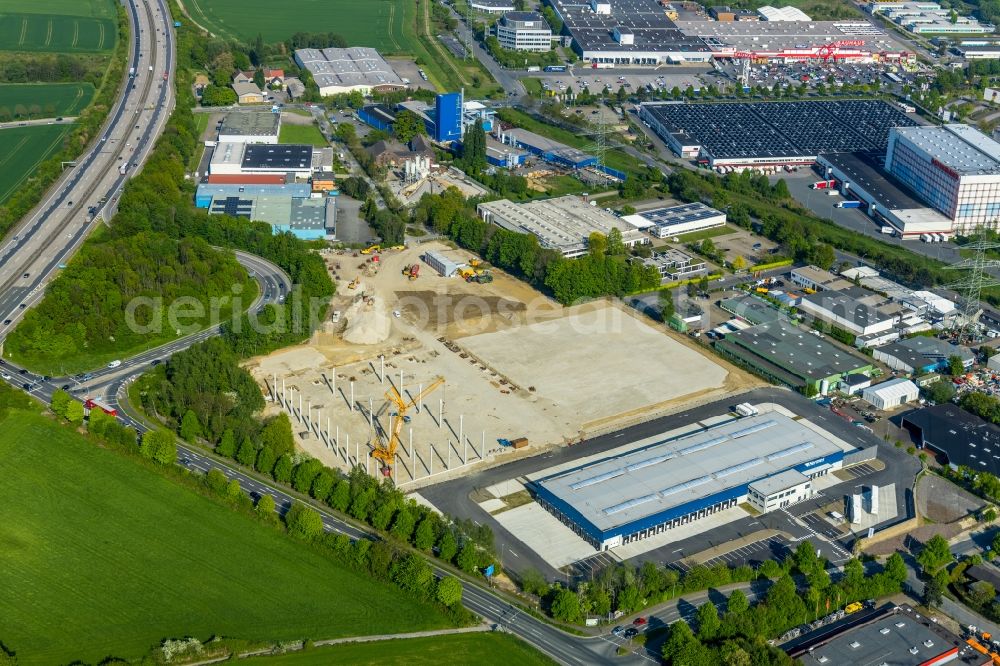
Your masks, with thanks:
M 448 626 L 436 607 L 49 419 L 0 420 L 0 641 L 20 664 L 136 658 L 163 638 Z

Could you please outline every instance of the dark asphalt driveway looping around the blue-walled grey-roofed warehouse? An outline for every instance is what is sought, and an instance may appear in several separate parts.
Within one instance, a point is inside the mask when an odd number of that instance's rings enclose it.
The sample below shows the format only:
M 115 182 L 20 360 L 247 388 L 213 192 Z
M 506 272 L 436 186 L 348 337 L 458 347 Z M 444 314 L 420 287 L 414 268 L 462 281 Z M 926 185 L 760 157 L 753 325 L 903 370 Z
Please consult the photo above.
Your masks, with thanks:
M 549 565 L 541 556 L 536 554 L 514 534 L 507 531 L 488 513 L 483 511 L 479 505 L 472 502 L 469 499 L 469 495 L 475 490 L 489 487 L 506 479 L 522 478 L 527 474 L 570 462 L 584 456 L 609 451 L 630 441 L 651 437 L 661 432 L 724 414 L 729 411 L 734 403 L 746 400 L 750 402 L 774 402 L 780 404 L 794 413 L 809 418 L 820 427 L 855 446 L 879 446 L 878 455 L 880 459 L 886 462 L 886 468 L 863 479 L 840 483 L 833 488 L 825 490 L 821 498 L 790 507 L 788 513 L 774 512 L 760 516 L 757 519 L 748 516 L 747 518 L 713 528 L 707 533 L 683 539 L 650 551 L 634 558 L 633 561 L 641 562 L 650 560 L 658 564 L 670 564 L 708 548 L 716 547 L 728 541 L 740 539 L 753 532 L 768 528 L 788 532 L 793 538 L 808 538 L 824 551 L 825 556 L 835 561 L 841 560 L 844 556 L 838 549 L 843 549 L 845 544 L 831 543 L 826 535 L 822 535 L 822 529 L 819 530 L 820 536 L 817 536 L 817 530 L 803 522 L 800 516 L 815 510 L 822 504 L 830 502 L 831 498 L 846 494 L 861 482 L 866 484 L 876 483 L 879 485 L 895 483 L 898 519 L 901 520 L 905 516 L 912 514 L 912 497 L 907 490 L 912 487 L 913 479 L 920 467 L 919 461 L 913 456 L 908 456 L 904 452 L 886 445 L 872 434 L 852 426 L 829 410 L 818 407 L 813 401 L 807 400 L 797 393 L 780 388 L 764 388 L 739 397 L 732 396 L 725 400 L 701 405 L 678 414 L 654 419 L 618 432 L 595 437 L 587 440 L 582 445 L 561 447 L 538 456 L 515 460 L 505 465 L 422 488 L 419 492 L 437 508 L 449 515 L 489 524 L 495 534 L 497 552 L 511 552 L 516 555 L 516 557 L 505 556 L 503 558 L 506 567 L 514 571 L 532 567 L 542 572 L 550 580 L 567 580 L 568 574 L 566 572 Z M 753 524 L 755 522 L 760 524 Z M 794 548 L 794 544 L 792 547 Z M 597 554 L 596 551 L 595 554 Z M 760 560 L 762 558 L 762 553 L 747 554 L 748 561 Z

